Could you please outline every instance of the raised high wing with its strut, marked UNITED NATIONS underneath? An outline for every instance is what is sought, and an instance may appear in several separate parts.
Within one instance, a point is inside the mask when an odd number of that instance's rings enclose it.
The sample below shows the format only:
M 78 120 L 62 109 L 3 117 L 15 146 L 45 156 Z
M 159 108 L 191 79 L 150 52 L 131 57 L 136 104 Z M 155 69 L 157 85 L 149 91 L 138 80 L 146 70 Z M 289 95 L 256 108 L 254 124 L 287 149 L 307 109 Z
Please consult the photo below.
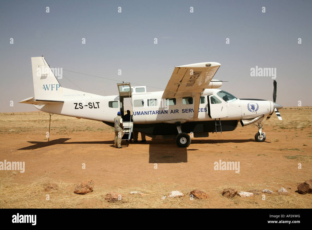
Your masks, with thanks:
M 220 65 L 217 62 L 202 62 L 175 67 L 163 92 L 163 98 L 195 96 L 193 118 L 196 119 L 200 95 L 205 89 L 211 88 L 208 85 Z

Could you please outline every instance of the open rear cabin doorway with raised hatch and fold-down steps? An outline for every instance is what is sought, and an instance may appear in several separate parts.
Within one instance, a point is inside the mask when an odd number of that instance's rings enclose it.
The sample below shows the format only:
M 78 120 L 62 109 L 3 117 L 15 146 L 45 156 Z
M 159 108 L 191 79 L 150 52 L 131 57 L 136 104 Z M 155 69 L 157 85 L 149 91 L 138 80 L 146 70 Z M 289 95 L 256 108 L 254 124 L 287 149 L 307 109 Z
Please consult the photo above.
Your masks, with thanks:
M 120 112 L 123 120 L 124 131 L 122 140 L 130 140 L 133 130 L 133 108 L 132 108 L 132 88 L 130 83 L 118 83 Z M 127 115 L 127 110 L 130 110 L 130 116 Z

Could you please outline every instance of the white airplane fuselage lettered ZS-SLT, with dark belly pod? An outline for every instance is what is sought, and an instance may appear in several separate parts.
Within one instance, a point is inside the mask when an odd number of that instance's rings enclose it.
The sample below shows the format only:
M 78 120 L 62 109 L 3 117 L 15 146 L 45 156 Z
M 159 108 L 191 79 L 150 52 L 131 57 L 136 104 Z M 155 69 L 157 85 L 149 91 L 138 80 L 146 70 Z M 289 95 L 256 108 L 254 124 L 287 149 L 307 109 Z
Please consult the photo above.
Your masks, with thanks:
M 65 88 L 63 88 L 65 89 Z M 198 118 L 193 118 L 194 105 L 191 97 L 163 99 L 163 91 L 133 93 L 133 130 L 151 135 L 175 135 L 178 133 L 176 122 L 182 123 L 183 132 L 215 132 L 216 121 L 221 120 L 222 131 L 232 131 L 238 121 L 252 119 L 273 112 L 273 102 L 259 99 L 222 98 L 222 90 L 205 89 L 200 98 Z M 226 93 L 226 92 L 225 92 Z M 65 97 L 65 96 L 64 96 Z M 213 98 L 211 98 L 213 97 Z M 102 121 L 113 126 L 114 117 L 121 110 L 119 95 L 95 96 L 92 98 L 69 99 L 60 104 L 34 105 L 38 110 Z

